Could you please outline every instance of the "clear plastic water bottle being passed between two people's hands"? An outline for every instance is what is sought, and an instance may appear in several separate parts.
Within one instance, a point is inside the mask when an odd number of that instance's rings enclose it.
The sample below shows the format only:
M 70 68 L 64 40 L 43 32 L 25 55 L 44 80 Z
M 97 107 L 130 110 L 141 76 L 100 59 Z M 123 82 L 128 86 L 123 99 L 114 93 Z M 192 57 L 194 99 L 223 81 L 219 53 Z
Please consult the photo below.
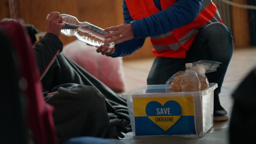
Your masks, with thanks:
M 104 29 L 94 26 L 87 22 L 79 22 L 79 20 L 68 14 L 60 14 L 62 22 L 65 23 L 64 29 L 61 30 L 61 34 L 66 36 L 76 36 L 78 40 L 87 43 L 90 46 L 99 47 L 101 45 L 108 47 L 109 49 L 114 47 L 114 43 L 108 43 L 105 39 L 105 35 L 108 33 Z

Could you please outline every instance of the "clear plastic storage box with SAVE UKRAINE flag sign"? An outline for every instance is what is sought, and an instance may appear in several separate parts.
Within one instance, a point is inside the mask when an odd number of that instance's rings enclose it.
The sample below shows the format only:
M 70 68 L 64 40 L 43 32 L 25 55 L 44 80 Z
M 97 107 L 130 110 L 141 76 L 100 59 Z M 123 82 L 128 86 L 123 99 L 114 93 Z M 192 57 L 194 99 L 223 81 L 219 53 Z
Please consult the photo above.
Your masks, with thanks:
M 135 138 L 173 135 L 200 138 L 213 126 L 213 90 L 166 92 L 166 85 L 147 85 L 122 93 Z

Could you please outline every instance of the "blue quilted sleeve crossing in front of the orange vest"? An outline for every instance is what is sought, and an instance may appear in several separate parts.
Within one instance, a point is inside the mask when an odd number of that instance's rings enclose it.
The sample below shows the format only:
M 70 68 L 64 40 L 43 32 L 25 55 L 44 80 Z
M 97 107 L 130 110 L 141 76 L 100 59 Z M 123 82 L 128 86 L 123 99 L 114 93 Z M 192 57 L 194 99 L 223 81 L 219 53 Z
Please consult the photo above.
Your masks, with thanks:
M 177 0 L 168 9 L 149 17 L 131 21 L 135 38 L 154 37 L 192 22 L 199 14 L 203 0 Z

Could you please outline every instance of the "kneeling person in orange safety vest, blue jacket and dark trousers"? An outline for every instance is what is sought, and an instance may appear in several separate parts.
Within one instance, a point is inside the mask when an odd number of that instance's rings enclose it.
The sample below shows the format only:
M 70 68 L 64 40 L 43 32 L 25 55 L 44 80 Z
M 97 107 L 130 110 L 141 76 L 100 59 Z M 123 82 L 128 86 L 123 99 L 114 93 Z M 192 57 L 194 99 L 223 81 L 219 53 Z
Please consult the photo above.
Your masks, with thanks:
M 231 31 L 221 20 L 212 0 L 123 0 L 124 24 L 106 28 L 105 38 L 115 47 L 100 46 L 102 55 L 131 55 L 151 38 L 156 57 L 147 78 L 148 85 L 166 84 L 186 63 L 214 60 L 221 63 L 216 72 L 207 73 L 214 90 L 214 121 L 228 119 L 219 94 L 233 55 Z

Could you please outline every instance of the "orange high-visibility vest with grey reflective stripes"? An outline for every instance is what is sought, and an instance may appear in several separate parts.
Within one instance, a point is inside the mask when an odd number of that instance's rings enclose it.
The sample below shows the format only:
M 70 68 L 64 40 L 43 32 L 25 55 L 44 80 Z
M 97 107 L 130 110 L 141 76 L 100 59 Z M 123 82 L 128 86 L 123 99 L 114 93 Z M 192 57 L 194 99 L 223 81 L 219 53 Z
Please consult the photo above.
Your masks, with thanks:
M 149 17 L 160 12 L 154 5 L 153 0 L 125 0 L 133 20 Z M 168 9 L 176 0 L 160 0 L 162 9 Z M 186 51 L 189 50 L 199 30 L 210 23 L 220 22 L 221 18 L 218 9 L 212 0 L 203 0 L 198 17 L 191 23 L 181 26 L 171 32 L 151 37 L 153 54 L 156 57 L 186 58 Z

